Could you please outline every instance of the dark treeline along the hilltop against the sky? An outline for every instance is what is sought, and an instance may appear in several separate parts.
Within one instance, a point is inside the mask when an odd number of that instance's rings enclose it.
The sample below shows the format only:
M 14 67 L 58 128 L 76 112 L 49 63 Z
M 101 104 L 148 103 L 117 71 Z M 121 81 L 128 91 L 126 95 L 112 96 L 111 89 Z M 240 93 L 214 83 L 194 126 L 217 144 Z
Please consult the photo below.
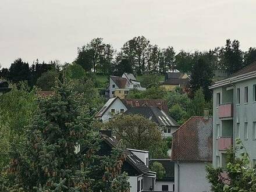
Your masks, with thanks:
M 152 45 L 147 38 L 138 36 L 125 42 L 120 51 L 116 51 L 102 38 L 94 38 L 78 48 L 74 63 L 82 66 L 86 72 L 96 74 L 121 75 L 128 72 L 140 75 L 163 74 L 173 70 L 193 72 L 193 66 L 199 59 L 207 63 L 212 73 L 214 70 L 225 70 L 232 74 L 256 61 L 256 48 L 251 47 L 243 52 L 239 41 L 226 40 L 225 46 L 205 52 L 175 52 L 173 47 L 159 48 L 158 45 Z M 29 66 L 29 63 L 17 59 L 9 69 L 3 68 L 0 76 L 13 82 L 28 80 L 30 85 L 34 85 L 47 70 L 60 70 L 59 62 L 56 61 L 38 64 L 37 60 Z

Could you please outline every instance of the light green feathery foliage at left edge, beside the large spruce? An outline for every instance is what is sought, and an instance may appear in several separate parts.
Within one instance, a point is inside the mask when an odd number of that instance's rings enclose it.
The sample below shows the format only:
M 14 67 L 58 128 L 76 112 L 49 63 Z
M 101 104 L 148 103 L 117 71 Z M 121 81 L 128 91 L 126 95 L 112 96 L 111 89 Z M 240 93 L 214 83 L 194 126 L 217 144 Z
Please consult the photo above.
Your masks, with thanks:
M 36 99 L 35 90 L 30 91 L 26 83 L 19 84 L 19 89 L 12 86 L 0 96 L 0 172 L 10 160 L 10 144 L 18 146 L 24 139 L 24 127 L 37 108 Z

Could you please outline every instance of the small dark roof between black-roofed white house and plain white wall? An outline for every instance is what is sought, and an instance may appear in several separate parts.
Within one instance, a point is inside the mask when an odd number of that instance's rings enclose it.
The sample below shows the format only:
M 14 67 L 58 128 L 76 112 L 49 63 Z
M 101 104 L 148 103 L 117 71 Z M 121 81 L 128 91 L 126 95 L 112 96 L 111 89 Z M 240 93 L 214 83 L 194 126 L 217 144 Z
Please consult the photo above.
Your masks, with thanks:
M 162 179 L 157 179 L 157 181 L 169 181 L 174 182 L 174 166 L 175 162 L 170 159 L 150 159 L 151 166 L 153 162 L 159 162 L 165 168 L 165 176 Z

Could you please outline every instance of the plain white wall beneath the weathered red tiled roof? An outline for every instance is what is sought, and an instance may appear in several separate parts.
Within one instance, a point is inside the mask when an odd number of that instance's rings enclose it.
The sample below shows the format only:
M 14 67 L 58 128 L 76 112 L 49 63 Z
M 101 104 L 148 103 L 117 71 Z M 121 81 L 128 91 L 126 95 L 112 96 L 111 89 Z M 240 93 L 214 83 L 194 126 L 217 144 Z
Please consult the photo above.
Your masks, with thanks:
M 175 162 L 175 191 L 210 192 L 206 179 L 205 162 Z

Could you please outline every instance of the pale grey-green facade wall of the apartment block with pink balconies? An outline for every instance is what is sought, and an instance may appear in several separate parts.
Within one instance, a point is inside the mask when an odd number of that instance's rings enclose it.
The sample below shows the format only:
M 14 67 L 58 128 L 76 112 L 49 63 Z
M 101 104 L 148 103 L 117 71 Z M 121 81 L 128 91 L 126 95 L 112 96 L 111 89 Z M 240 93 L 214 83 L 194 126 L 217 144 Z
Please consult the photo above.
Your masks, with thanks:
M 223 130 L 223 128 L 227 126 L 231 126 L 233 129 L 233 143 L 235 144 L 236 137 L 241 138 L 241 141 L 246 147 L 246 150 L 248 154 L 250 155 L 250 158 L 252 161 L 256 161 L 256 102 L 254 101 L 254 84 L 256 84 L 256 79 L 247 80 L 247 81 L 241 81 L 239 83 L 235 83 L 234 85 L 235 90 L 227 91 L 226 87 L 219 87 L 214 89 L 214 122 L 213 122 L 213 165 L 216 167 L 217 165 L 222 166 L 222 164 L 225 163 L 225 152 L 226 151 L 219 151 L 218 149 L 218 138 L 216 137 L 216 134 L 218 133 L 218 125 L 220 125 L 220 131 L 222 134 L 227 134 L 226 130 Z M 231 85 L 230 85 L 231 86 Z M 245 94 L 244 94 L 244 87 L 248 86 L 248 103 L 245 103 Z M 232 98 L 232 95 L 230 93 L 233 93 L 233 96 L 237 97 L 237 88 L 240 88 L 240 104 L 237 103 L 237 98 Z M 216 104 L 217 97 L 216 94 L 221 93 L 221 104 L 232 101 L 235 110 L 234 110 L 234 118 L 231 120 L 223 120 L 219 119 L 218 116 L 218 106 Z M 234 119 L 234 122 L 233 122 Z M 229 121 L 229 122 L 228 122 Z M 245 137 L 245 126 L 247 123 L 247 134 L 248 138 Z M 232 126 L 233 124 L 233 126 Z M 239 129 L 238 129 L 239 127 Z M 237 133 L 239 131 L 239 134 Z M 230 133 L 228 133 L 230 134 Z M 225 136 L 225 135 L 223 135 Z M 243 150 L 237 151 L 237 155 L 241 154 Z M 219 159 L 219 163 L 217 162 L 217 159 Z M 254 160 L 255 159 L 255 160 Z

